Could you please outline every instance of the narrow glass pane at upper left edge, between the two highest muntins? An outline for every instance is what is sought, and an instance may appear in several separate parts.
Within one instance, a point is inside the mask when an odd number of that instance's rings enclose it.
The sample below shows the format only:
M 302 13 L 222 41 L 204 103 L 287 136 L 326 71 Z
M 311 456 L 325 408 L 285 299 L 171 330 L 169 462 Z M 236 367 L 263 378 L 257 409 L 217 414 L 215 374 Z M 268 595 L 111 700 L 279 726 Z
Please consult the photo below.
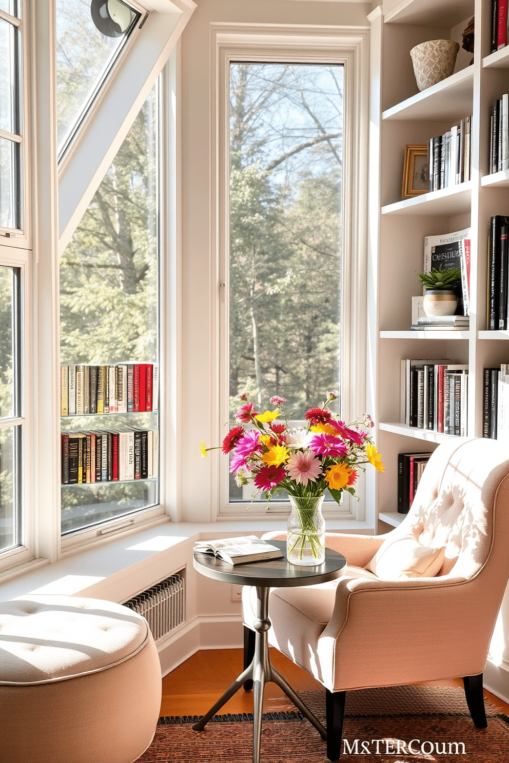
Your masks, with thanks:
M 0 130 L 19 134 L 19 31 L 0 19 Z

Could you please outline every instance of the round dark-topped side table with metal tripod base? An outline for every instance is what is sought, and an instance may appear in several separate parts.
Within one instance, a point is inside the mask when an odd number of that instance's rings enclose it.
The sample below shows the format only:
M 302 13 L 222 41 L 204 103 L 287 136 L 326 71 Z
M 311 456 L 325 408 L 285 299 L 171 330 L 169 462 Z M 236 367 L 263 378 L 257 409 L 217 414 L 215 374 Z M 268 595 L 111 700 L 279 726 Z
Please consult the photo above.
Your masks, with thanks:
M 343 575 L 346 559 L 342 554 L 325 549 L 325 561 L 316 567 L 299 567 L 292 565 L 286 559 L 286 543 L 281 540 L 271 540 L 274 546 L 279 546 L 283 559 L 272 559 L 268 562 L 251 562 L 246 565 L 229 565 L 222 559 L 210 554 L 195 551 L 193 564 L 195 570 L 207 578 L 220 580 L 224 583 L 237 585 L 252 585 L 256 587 L 256 620 L 253 625 L 256 630 L 253 662 L 224 692 L 221 699 L 195 723 L 193 729 L 202 731 L 211 717 L 223 707 L 230 697 L 240 689 L 246 681 L 253 681 L 253 763 L 259 763 L 260 741 L 262 737 L 263 688 L 272 681 L 277 684 L 286 696 L 292 700 L 302 715 L 313 724 L 322 737 L 327 739 L 327 732 L 320 721 L 311 713 L 301 698 L 295 694 L 292 687 L 281 674 L 272 667 L 269 658 L 269 641 L 267 632 L 271 626 L 269 620 L 269 591 L 271 588 L 288 588 L 304 585 L 327 583 Z

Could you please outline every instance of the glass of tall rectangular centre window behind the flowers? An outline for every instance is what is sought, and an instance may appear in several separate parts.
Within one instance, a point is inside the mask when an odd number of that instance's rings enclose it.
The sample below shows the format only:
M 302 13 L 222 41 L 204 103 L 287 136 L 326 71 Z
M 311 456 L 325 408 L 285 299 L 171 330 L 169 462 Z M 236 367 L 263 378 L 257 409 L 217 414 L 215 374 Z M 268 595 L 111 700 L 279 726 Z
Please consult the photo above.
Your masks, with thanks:
M 230 65 L 232 417 L 340 391 L 342 163 L 343 65 Z

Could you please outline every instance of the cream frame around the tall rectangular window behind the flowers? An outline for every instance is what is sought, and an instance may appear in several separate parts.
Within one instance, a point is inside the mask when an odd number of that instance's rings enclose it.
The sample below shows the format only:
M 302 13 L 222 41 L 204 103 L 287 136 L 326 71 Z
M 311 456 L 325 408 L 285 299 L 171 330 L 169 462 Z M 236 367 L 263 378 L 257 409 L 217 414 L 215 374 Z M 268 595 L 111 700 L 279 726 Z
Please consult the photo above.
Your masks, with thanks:
M 247 25 L 246 25 L 247 26 Z M 274 63 L 342 63 L 344 65 L 343 97 L 343 191 L 342 226 L 342 301 L 341 317 L 341 414 L 352 420 L 366 407 L 366 261 L 367 261 L 367 149 L 368 149 L 368 82 L 369 37 L 364 28 L 346 30 L 341 27 L 241 27 L 213 25 L 215 60 L 211 83 L 212 125 L 215 128 L 215 174 L 217 195 L 211 194 L 212 218 L 216 221 L 217 290 L 215 326 L 217 330 L 217 378 L 219 415 L 212 423 L 214 444 L 224 436 L 224 422 L 229 412 L 229 346 L 227 295 L 228 284 L 228 177 L 229 177 L 229 77 L 230 62 L 260 61 Z M 346 253 L 351 252 L 350 257 Z M 249 504 L 230 502 L 228 462 L 221 457 L 211 474 L 212 491 L 216 496 L 217 520 L 246 517 Z M 359 475 L 357 492 L 360 500 L 347 494 L 340 506 L 327 502 L 324 516 L 337 520 L 364 520 L 365 479 Z M 287 517 L 288 501 L 273 499 L 250 504 L 255 517 L 271 515 Z

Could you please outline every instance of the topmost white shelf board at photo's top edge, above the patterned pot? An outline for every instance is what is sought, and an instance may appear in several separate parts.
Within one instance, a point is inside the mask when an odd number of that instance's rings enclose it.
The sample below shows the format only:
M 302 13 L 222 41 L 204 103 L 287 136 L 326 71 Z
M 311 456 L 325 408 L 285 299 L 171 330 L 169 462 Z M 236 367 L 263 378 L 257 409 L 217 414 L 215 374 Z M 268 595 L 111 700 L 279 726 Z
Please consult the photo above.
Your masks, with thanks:
M 386 24 L 440 25 L 455 27 L 474 14 L 473 0 L 402 0 L 385 14 Z

